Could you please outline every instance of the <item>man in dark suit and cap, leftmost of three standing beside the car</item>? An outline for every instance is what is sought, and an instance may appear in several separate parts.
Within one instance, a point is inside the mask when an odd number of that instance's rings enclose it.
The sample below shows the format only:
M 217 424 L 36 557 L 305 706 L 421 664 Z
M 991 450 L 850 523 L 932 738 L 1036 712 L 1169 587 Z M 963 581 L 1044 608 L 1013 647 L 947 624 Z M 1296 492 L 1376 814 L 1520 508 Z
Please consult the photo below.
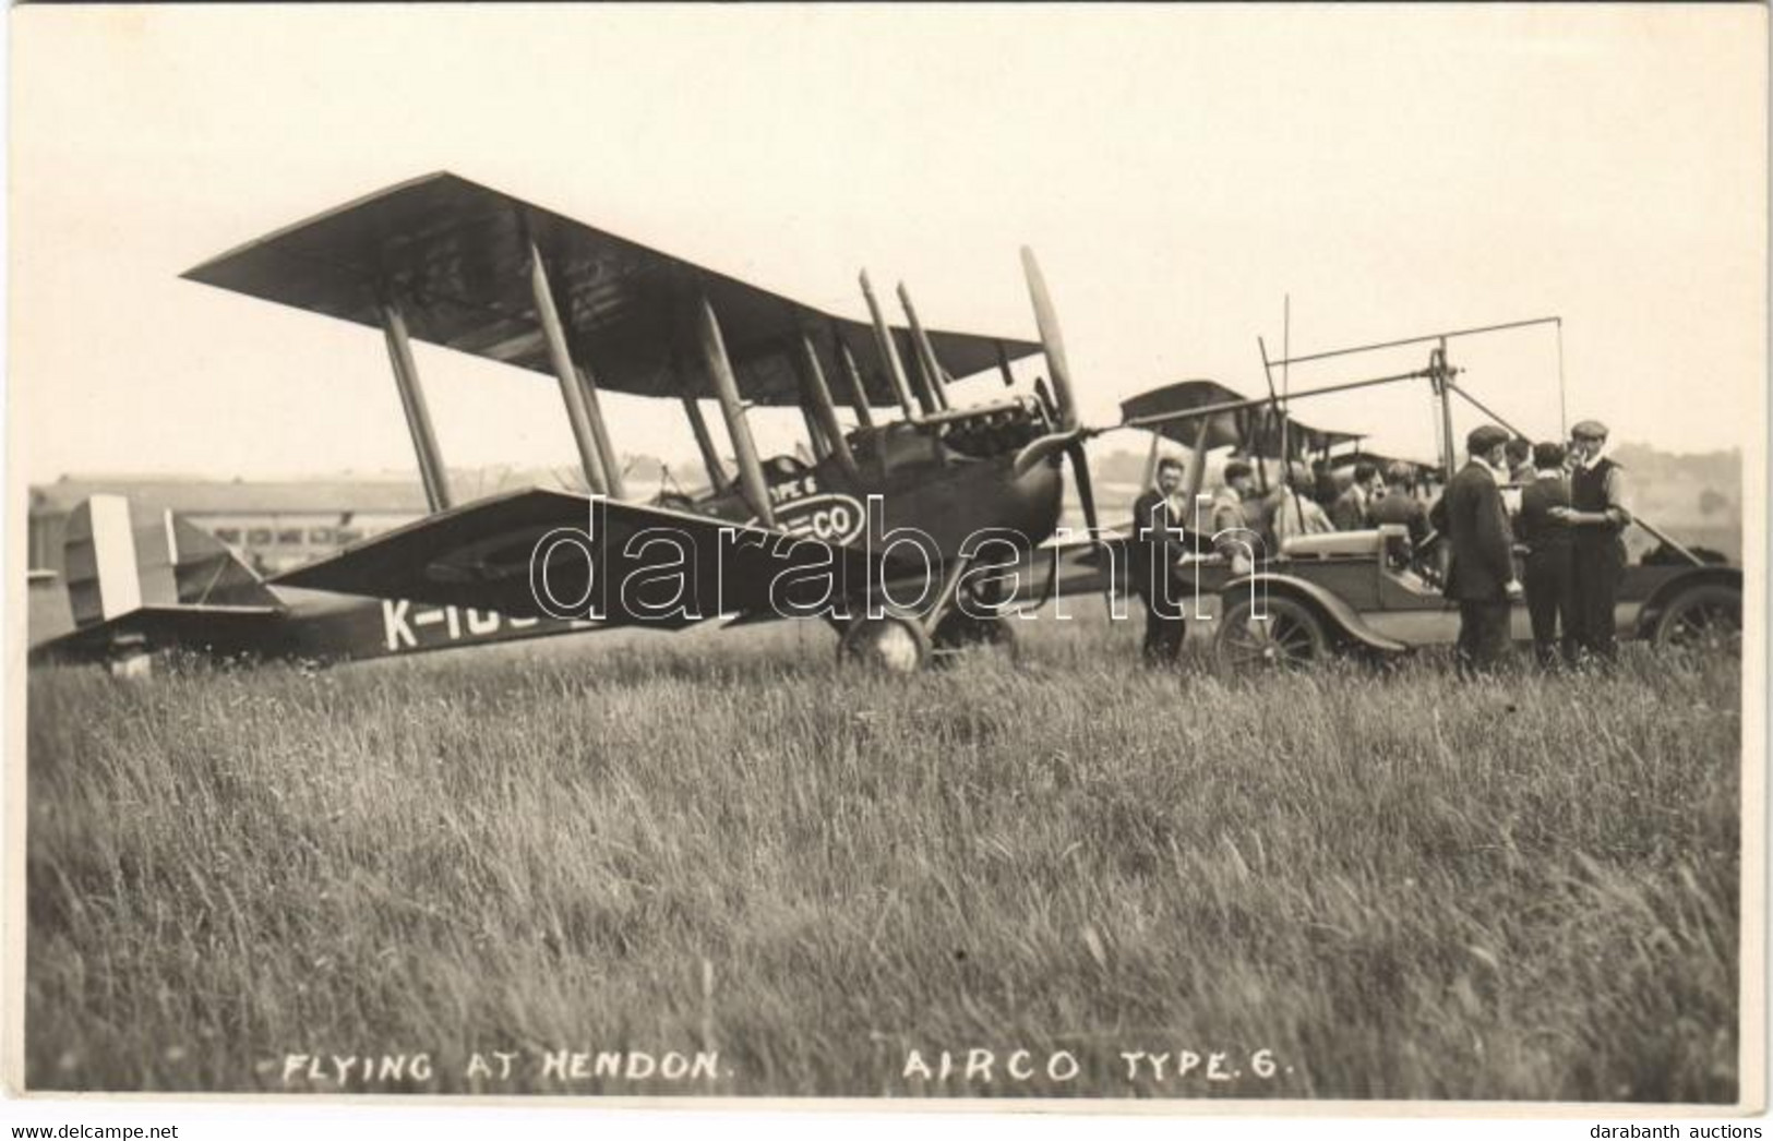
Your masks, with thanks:
M 1509 654 L 1509 609 L 1521 595 L 1514 578 L 1514 539 L 1502 507 L 1496 473 L 1507 462 L 1509 434 L 1486 423 L 1466 436 L 1470 461 L 1447 484 L 1436 526 L 1447 533 L 1452 562 L 1449 599 L 1459 602 L 1459 671 L 1488 671 Z

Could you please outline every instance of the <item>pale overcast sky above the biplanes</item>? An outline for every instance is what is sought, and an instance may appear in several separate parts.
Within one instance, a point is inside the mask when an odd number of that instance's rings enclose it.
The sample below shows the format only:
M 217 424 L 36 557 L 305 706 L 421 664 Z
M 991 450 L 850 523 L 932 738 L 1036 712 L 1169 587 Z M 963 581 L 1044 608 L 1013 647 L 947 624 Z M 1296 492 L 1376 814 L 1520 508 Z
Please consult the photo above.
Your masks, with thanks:
M 30 480 L 410 470 L 379 335 L 177 275 L 445 168 L 840 312 L 865 266 L 941 328 L 1032 337 L 1028 243 L 1094 423 L 1183 377 L 1259 393 L 1257 335 L 1280 349 L 1291 294 L 1294 353 L 1557 314 L 1571 418 L 1668 450 L 1764 434 L 1759 5 L 9 19 Z M 1528 432 L 1558 429 L 1553 331 L 1454 360 Z M 546 377 L 427 345 L 418 367 L 452 466 L 571 464 Z M 677 408 L 605 408 L 621 450 L 693 455 Z M 1434 454 L 1417 386 L 1298 415 Z

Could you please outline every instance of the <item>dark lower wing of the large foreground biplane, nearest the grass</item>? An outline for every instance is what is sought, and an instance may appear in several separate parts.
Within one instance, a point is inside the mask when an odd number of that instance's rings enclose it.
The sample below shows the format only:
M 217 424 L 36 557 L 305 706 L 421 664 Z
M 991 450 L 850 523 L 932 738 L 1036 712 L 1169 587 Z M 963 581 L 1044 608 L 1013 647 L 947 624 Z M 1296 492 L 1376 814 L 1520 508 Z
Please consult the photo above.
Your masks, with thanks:
M 871 556 L 755 526 L 530 489 L 429 516 L 278 585 L 676 629 L 720 615 L 814 617 L 863 594 Z

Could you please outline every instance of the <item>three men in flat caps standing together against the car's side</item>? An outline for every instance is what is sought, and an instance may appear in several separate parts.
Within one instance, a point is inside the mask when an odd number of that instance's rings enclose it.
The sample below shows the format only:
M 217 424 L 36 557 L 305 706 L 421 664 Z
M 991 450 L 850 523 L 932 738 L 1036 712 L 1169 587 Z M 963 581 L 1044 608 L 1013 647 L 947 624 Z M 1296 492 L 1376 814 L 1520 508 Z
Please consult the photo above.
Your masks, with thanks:
M 1511 480 L 1509 434 L 1495 425 L 1466 438 L 1470 461 L 1434 507 L 1434 524 L 1452 549 L 1445 592 L 1459 604 L 1457 656 L 1464 670 L 1488 670 L 1509 652 L 1509 613 L 1525 594 L 1541 666 L 1574 664 L 1589 656 L 1612 663 L 1613 608 L 1626 569 L 1621 539 L 1626 508 L 1624 468 L 1603 455 L 1606 425 L 1583 420 L 1566 448 L 1539 443 L 1530 450 L 1530 480 L 1509 521 L 1502 482 Z M 1516 578 L 1514 549 L 1523 547 Z

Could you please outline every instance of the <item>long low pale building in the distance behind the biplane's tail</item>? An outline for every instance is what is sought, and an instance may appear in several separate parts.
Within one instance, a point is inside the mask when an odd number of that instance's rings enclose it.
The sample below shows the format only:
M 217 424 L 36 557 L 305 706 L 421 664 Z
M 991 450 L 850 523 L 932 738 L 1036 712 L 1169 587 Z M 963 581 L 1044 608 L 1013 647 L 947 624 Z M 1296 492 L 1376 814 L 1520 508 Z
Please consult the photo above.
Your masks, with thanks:
M 122 494 L 170 508 L 234 547 L 248 565 L 277 574 L 426 514 L 417 480 L 197 480 L 167 477 L 62 477 L 30 489 L 32 570 L 62 570 L 67 514 L 94 494 Z

